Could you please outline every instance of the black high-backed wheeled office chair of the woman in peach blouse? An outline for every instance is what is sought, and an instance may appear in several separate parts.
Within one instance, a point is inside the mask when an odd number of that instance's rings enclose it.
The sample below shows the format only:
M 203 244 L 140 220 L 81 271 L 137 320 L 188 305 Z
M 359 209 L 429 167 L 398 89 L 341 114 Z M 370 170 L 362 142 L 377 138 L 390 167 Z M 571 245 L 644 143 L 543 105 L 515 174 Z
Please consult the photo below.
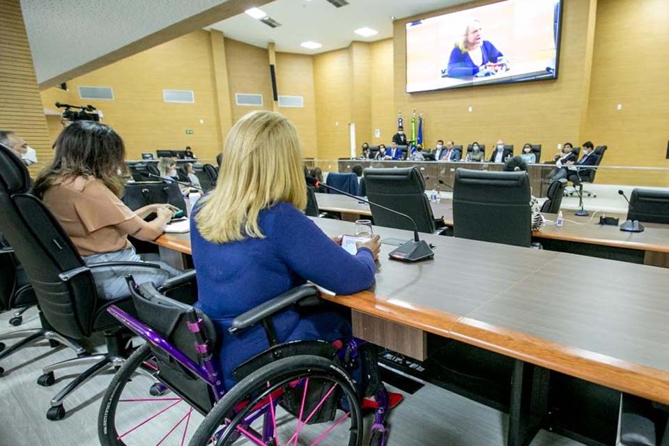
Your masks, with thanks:
M 89 355 L 77 351 L 77 357 L 49 365 L 43 369 L 38 384 L 55 382 L 54 371 L 79 364 L 91 364 L 51 400 L 47 411 L 49 420 L 65 416 L 63 401 L 79 386 L 109 367 L 121 365 L 128 337 L 116 318 L 107 313 L 109 305 L 133 312 L 132 300 L 98 300 L 92 270 L 112 266 L 151 268 L 157 274 L 160 266 L 154 263 L 107 262 L 86 266 L 84 260 L 60 224 L 42 201 L 28 192 L 29 175 L 24 164 L 0 144 L 0 227 L 14 248 L 37 296 L 38 305 L 49 327 L 67 339 L 88 339 L 102 332 L 107 341 L 107 353 Z M 194 279 L 194 272 L 193 279 Z M 59 339 L 61 341 L 61 339 Z M 83 349 L 82 349 L 83 350 Z

